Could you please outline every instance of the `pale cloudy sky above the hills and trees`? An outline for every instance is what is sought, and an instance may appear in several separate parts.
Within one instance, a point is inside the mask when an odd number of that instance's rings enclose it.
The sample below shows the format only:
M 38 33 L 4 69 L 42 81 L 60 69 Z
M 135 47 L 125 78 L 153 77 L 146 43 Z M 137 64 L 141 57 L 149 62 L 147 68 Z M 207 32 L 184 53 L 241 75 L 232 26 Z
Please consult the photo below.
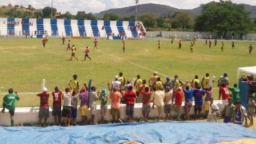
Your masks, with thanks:
M 28 7 L 32 5 L 35 9 L 43 7 L 51 7 L 52 0 L 0 0 L 0 5 L 23 5 Z M 194 9 L 202 3 L 209 3 L 213 0 L 139 0 L 140 4 L 157 3 L 161 5 L 169 5 L 178 9 Z M 218 1 L 218 0 L 215 0 Z M 232 0 L 233 3 L 245 3 L 256 6 L 256 0 Z M 135 0 L 53 0 L 53 7 L 58 12 L 65 13 L 66 11 L 76 14 L 77 11 L 85 11 L 87 13 L 101 12 L 108 9 L 116 9 L 121 7 L 129 7 L 135 5 Z

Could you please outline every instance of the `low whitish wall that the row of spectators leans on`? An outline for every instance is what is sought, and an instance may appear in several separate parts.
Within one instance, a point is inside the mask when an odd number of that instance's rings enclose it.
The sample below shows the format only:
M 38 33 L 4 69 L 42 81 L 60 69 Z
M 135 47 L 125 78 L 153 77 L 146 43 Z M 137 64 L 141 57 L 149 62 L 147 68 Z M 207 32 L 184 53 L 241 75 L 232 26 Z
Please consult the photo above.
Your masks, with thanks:
M 221 111 L 224 108 L 224 104 L 227 103 L 227 101 L 222 101 L 222 100 L 216 100 L 215 103 L 219 106 L 219 109 Z M 126 118 L 125 115 L 125 105 L 121 105 L 120 110 L 121 110 L 121 119 Z M 54 122 L 53 116 L 52 116 L 52 109 L 50 109 L 50 118 L 48 122 Z M 182 113 L 184 113 L 184 102 L 182 103 L 181 107 Z M 15 110 L 14 114 L 14 124 L 24 124 L 24 123 L 35 123 L 38 120 L 38 113 L 39 113 L 39 107 L 17 107 Z M 163 109 L 162 109 L 163 113 Z M 91 111 L 88 111 L 88 117 L 91 117 Z M 164 113 L 163 113 L 164 114 Z M 171 112 L 172 115 L 175 115 L 175 112 Z M 190 111 L 190 114 L 194 114 L 194 103 L 193 107 Z M 155 109 L 151 108 L 150 111 L 150 117 L 157 117 L 158 116 L 158 110 L 155 107 Z M 163 115 L 165 116 L 165 115 Z M 137 103 L 135 104 L 135 113 L 134 113 L 135 118 L 140 118 L 142 117 L 142 103 Z M 112 120 L 112 116 L 110 115 L 110 105 L 108 105 L 108 110 L 106 112 L 106 120 Z M 98 122 L 100 120 L 100 105 L 97 105 L 97 110 L 95 113 L 95 122 Z M 77 122 L 81 121 L 81 115 L 79 115 L 79 109 L 77 109 Z M 8 110 L 5 113 L 0 113 L 0 126 L 9 126 L 10 125 L 10 115 L 8 113 Z

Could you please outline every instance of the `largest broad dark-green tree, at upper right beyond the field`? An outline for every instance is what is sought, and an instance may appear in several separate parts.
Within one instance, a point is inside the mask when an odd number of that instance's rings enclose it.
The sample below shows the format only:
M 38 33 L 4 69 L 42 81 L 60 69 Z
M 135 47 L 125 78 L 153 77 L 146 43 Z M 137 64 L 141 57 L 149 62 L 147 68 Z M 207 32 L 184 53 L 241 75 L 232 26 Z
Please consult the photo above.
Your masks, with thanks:
M 196 31 L 213 31 L 226 37 L 226 33 L 239 33 L 240 36 L 249 31 L 251 19 L 243 5 L 232 1 L 211 2 L 202 6 L 202 13 L 195 18 Z

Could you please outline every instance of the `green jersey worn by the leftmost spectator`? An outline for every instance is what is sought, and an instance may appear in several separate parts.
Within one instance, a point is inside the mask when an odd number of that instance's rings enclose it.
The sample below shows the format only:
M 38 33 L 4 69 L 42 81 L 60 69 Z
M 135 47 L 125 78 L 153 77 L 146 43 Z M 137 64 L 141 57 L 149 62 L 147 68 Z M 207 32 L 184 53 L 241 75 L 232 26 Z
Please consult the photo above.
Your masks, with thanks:
M 16 100 L 19 100 L 20 98 L 18 97 L 17 94 L 7 94 L 3 98 L 5 101 L 5 107 L 9 109 L 9 111 L 14 111 L 15 110 L 15 102 Z

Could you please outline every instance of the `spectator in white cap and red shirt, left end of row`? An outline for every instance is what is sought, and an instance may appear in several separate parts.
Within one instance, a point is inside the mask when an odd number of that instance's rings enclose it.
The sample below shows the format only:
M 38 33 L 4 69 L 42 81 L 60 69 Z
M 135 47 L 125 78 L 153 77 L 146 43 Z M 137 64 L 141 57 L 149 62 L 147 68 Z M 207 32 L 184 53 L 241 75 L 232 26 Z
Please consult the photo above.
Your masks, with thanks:
M 39 107 L 39 115 L 38 122 L 39 126 L 41 126 L 42 119 L 44 118 L 44 126 L 47 124 L 47 118 L 49 118 L 49 96 L 50 94 L 47 92 L 47 88 L 43 88 L 43 92 L 37 94 L 40 97 L 40 107 Z

